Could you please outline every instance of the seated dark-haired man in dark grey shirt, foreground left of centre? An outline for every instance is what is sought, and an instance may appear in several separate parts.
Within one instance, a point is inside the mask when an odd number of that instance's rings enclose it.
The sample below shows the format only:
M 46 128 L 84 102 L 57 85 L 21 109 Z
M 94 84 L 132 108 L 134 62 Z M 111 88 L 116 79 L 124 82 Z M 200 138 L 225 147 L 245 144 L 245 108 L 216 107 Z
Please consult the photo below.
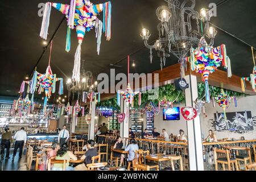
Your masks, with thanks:
M 81 159 L 84 160 L 83 164 L 79 164 L 78 166 L 75 167 L 75 171 L 86 171 L 87 164 L 92 164 L 92 157 L 97 156 L 98 152 L 97 149 L 94 148 L 94 140 L 88 140 L 87 146 L 86 146 L 86 152 L 84 155 L 81 156 Z

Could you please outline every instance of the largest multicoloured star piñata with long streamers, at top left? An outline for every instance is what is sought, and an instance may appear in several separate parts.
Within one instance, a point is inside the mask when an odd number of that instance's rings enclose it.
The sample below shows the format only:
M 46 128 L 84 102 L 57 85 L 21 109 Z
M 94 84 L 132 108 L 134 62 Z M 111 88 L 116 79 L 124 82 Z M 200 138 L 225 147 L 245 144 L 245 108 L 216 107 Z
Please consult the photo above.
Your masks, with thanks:
M 42 28 L 40 36 L 43 39 L 47 39 L 49 17 L 51 14 L 51 6 L 55 7 L 56 10 L 63 13 L 68 19 L 68 30 L 66 39 L 66 51 L 69 52 L 71 48 L 71 29 L 76 28 L 77 39 L 79 45 L 76 49 L 75 54 L 75 65 L 73 68 L 72 79 L 80 81 L 80 60 L 81 60 L 81 44 L 84 39 L 85 32 L 89 32 L 97 24 L 97 52 L 100 53 L 101 34 L 102 29 L 105 32 L 107 40 L 111 38 L 111 13 L 112 5 L 111 2 L 105 2 L 98 5 L 93 5 L 89 0 L 71 0 L 70 5 L 64 5 L 61 3 L 46 3 L 44 10 L 44 16 L 42 21 Z M 104 21 L 100 22 L 97 18 L 98 14 L 104 11 Z

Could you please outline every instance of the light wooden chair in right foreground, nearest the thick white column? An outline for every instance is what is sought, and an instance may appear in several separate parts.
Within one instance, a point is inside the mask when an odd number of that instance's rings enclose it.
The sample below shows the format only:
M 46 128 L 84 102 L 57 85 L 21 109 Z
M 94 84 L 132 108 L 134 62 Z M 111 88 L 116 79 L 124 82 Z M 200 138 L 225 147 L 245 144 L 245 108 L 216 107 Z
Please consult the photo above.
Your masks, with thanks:
M 225 171 L 225 164 L 228 165 L 229 171 L 231 171 L 231 164 L 232 164 L 233 170 L 234 170 L 234 164 L 235 164 L 237 171 L 239 171 L 237 160 L 234 158 L 230 158 L 229 150 L 219 150 L 217 148 L 214 148 L 214 162 L 215 162 L 216 171 L 218 171 L 218 163 L 222 164 L 222 168 L 224 171 Z

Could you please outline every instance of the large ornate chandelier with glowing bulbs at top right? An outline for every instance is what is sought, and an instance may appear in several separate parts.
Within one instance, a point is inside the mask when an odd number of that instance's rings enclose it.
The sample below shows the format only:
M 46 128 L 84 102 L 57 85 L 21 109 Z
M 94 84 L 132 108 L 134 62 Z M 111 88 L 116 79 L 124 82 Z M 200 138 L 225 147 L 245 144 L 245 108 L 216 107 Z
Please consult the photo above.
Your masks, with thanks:
M 184 75 L 186 67 L 185 57 L 191 47 L 198 46 L 201 37 L 207 36 L 213 46 L 217 31 L 214 27 L 209 27 L 212 11 L 201 9 L 200 13 L 194 10 L 195 0 L 184 0 L 182 3 L 178 0 L 165 0 L 168 6 L 160 6 L 156 9 L 156 16 L 160 20 L 158 24 L 159 38 L 151 46 L 148 44 L 150 31 L 142 29 L 141 37 L 145 46 L 150 49 L 150 61 L 152 63 L 152 49 L 160 57 L 161 70 L 166 64 L 166 57 L 172 53 L 181 64 L 181 77 Z M 191 6 L 188 3 L 191 2 Z M 200 30 L 201 26 L 201 30 Z M 204 28 L 203 28 L 204 26 Z

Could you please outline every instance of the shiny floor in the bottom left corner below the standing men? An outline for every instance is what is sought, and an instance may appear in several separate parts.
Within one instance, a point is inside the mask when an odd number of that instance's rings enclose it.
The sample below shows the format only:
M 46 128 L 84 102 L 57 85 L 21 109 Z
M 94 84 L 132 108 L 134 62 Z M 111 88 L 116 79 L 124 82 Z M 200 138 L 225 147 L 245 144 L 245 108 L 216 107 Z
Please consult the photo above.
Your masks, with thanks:
M 12 160 L 13 148 L 10 150 L 10 159 L 0 161 L 0 171 L 27 171 L 26 163 L 24 162 L 26 155 L 23 154 L 22 158 L 19 159 L 18 152 L 15 159 Z

